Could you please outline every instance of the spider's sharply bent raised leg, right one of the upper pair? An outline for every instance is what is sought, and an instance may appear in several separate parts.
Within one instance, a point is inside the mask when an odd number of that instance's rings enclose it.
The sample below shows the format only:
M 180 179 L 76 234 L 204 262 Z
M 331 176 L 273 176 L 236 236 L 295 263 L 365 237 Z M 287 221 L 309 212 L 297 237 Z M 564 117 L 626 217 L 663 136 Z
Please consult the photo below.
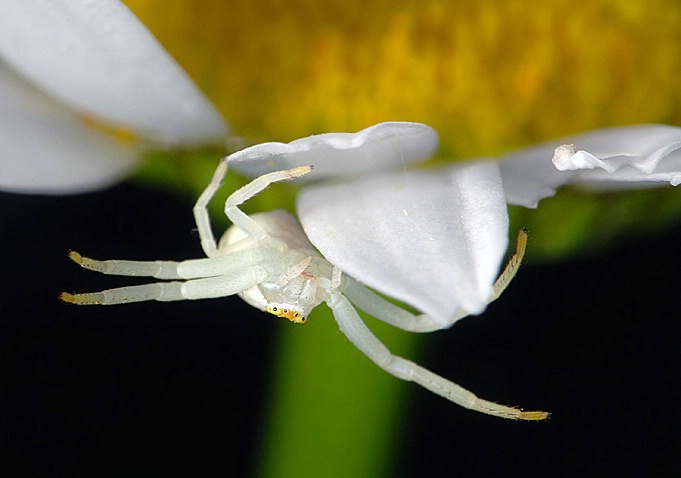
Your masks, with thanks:
M 258 240 L 269 237 L 262 226 L 248 217 L 248 215 L 239 209 L 238 206 L 266 189 L 272 183 L 288 181 L 290 179 L 304 176 L 310 171 L 312 171 L 311 166 L 299 166 L 297 168 L 287 169 L 284 171 L 274 171 L 272 173 L 263 174 L 262 176 L 255 178 L 241 189 L 234 191 L 231 196 L 227 198 L 227 202 L 225 203 L 225 214 L 229 220 L 232 221 L 232 224 L 244 231 L 249 236 Z

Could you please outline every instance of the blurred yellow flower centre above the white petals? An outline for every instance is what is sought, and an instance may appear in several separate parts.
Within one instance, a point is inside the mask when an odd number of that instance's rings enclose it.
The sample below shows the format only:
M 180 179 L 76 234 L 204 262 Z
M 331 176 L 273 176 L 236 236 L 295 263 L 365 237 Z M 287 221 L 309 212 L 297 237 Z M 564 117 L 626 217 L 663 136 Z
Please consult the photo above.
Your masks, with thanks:
M 450 157 L 681 120 L 675 0 L 127 0 L 237 134 L 419 121 Z

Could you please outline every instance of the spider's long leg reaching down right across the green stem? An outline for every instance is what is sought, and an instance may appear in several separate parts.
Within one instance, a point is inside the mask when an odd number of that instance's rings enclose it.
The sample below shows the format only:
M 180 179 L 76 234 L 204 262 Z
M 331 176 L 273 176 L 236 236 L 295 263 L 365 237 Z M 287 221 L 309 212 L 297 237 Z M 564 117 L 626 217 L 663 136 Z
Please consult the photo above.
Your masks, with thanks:
M 391 375 L 402 380 L 416 382 L 431 392 L 458 405 L 489 415 L 515 420 L 544 420 L 548 417 L 546 412 L 524 412 L 517 408 L 480 399 L 465 388 L 434 374 L 414 362 L 393 355 L 369 330 L 350 301 L 342 294 L 332 294 L 327 304 L 333 310 L 336 322 L 348 340 L 355 344 L 372 362 Z

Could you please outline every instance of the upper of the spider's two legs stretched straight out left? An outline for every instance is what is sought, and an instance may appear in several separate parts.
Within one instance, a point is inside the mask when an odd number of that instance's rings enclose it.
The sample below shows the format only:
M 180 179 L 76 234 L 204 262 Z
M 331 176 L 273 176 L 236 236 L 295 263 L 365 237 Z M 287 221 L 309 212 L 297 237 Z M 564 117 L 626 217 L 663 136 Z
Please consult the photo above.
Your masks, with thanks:
M 258 249 L 221 254 L 207 259 L 174 261 L 98 261 L 83 257 L 76 251 L 69 252 L 69 258 L 79 266 L 102 274 L 118 276 L 143 276 L 157 279 L 197 279 L 215 277 L 236 272 L 255 265 L 264 258 Z

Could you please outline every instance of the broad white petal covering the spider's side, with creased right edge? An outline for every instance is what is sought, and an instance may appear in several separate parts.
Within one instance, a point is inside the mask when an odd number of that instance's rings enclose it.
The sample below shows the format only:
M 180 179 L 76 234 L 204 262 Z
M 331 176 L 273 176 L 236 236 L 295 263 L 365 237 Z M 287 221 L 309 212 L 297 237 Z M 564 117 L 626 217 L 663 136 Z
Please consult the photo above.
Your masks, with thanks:
M 297 208 L 327 260 L 443 327 L 484 309 L 508 246 L 494 162 L 309 186 Z

